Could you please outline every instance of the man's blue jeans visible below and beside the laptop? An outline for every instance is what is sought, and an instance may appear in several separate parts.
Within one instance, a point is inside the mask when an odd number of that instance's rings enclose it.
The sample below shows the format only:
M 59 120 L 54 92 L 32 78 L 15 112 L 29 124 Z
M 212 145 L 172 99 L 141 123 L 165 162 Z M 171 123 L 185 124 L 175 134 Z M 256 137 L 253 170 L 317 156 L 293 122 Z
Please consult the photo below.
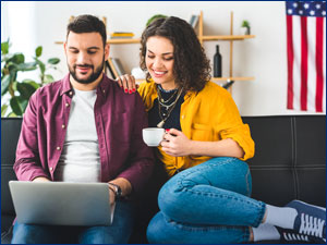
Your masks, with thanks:
M 32 225 L 15 222 L 13 244 L 118 244 L 128 243 L 134 226 L 133 205 L 117 201 L 113 222 L 109 226 Z

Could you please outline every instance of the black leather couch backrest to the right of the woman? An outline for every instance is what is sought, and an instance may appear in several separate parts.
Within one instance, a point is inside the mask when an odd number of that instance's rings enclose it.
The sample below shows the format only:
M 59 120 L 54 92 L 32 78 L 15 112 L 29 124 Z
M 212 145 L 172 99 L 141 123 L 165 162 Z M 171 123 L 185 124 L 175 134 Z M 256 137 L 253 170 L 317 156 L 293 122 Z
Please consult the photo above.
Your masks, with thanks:
M 283 206 L 296 198 L 326 206 L 326 117 L 244 117 L 255 142 L 253 198 Z

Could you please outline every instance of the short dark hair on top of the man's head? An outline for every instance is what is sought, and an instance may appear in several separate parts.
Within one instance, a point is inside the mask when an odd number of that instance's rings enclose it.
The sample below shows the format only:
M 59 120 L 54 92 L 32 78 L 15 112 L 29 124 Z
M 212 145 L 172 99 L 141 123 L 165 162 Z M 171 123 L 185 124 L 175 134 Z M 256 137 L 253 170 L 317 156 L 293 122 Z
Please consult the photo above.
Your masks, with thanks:
M 99 33 L 102 37 L 104 47 L 107 42 L 107 33 L 106 33 L 106 25 L 101 22 L 98 17 L 84 14 L 74 17 L 72 22 L 69 23 L 66 26 L 66 37 L 69 36 L 70 32 L 73 33 Z

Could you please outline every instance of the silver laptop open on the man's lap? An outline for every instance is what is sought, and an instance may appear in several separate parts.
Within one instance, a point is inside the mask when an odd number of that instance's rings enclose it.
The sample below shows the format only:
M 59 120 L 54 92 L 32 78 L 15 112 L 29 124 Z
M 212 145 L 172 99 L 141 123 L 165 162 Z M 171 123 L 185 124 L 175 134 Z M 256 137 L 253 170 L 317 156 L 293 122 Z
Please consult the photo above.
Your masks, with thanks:
M 49 225 L 110 225 L 114 207 L 106 183 L 10 181 L 17 221 Z

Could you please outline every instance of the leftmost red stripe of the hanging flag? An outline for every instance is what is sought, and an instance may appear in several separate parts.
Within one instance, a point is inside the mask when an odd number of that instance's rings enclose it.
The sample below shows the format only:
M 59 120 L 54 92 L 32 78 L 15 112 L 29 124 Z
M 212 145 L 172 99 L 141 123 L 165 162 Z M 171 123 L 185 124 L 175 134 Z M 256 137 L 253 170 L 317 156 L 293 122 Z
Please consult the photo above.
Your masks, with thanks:
M 291 15 L 287 15 L 287 36 L 288 36 L 288 109 L 293 109 L 293 21 Z

